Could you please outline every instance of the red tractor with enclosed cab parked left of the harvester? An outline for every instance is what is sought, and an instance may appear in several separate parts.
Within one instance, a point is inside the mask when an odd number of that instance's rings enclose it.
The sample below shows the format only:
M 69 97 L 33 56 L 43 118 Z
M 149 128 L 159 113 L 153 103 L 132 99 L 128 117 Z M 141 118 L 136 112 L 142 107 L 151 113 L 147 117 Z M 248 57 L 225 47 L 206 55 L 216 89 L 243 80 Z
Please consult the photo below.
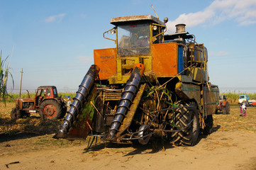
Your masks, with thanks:
M 65 100 L 57 95 L 55 86 L 40 86 L 35 98 L 16 98 L 16 108 L 11 111 L 11 119 L 29 117 L 30 113 L 39 113 L 41 118 L 63 118 L 67 111 Z

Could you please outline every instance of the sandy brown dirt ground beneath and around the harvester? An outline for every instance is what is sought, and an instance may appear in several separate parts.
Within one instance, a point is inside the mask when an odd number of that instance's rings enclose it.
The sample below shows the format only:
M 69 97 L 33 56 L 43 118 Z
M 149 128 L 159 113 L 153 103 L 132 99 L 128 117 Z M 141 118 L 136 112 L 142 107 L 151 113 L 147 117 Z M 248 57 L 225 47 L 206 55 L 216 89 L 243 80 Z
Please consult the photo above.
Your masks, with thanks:
M 9 139 L 1 132 L 0 169 L 256 169 L 256 108 L 242 118 L 233 106 L 213 118 L 213 132 L 194 147 L 101 144 L 87 151 L 86 142 L 57 147 L 53 134 Z

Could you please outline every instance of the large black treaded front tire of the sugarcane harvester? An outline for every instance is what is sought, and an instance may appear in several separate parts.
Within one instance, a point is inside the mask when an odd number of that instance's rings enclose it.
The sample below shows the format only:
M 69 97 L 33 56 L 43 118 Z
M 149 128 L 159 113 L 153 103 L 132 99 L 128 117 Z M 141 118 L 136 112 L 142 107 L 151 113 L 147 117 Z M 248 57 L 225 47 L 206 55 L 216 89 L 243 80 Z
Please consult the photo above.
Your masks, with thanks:
M 181 107 L 176 110 L 176 116 L 174 123 L 177 127 L 177 130 L 185 128 L 191 120 L 191 124 L 182 131 L 174 132 L 172 134 L 172 142 L 174 145 L 187 145 L 194 146 L 199 138 L 199 115 L 196 110 L 196 105 L 194 102 L 188 101 L 178 101 L 175 103 L 177 106 Z M 186 106 L 190 106 L 188 108 Z

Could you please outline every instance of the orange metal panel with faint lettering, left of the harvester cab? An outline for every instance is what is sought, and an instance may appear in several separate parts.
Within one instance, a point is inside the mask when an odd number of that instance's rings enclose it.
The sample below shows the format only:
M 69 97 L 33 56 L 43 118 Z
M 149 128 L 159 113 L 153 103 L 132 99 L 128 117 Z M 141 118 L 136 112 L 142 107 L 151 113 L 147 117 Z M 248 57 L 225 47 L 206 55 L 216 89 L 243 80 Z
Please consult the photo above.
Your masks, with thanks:
M 101 70 L 100 79 L 108 79 L 116 74 L 116 48 L 94 50 L 94 64 Z

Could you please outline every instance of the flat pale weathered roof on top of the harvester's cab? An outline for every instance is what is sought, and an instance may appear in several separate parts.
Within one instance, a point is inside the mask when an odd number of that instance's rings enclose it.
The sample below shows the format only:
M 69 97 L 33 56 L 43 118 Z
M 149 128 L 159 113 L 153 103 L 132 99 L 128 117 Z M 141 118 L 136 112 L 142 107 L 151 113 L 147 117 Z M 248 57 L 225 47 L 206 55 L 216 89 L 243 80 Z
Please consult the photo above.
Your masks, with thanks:
M 162 26 L 165 26 L 165 23 L 160 21 L 159 18 L 156 18 L 155 16 L 151 16 L 151 15 L 121 16 L 121 17 L 111 18 L 110 23 L 115 26 L 118 26 L 122 23 L 133 22 L 133 21 L 151 21 L 152 23 L 157 23 Z

